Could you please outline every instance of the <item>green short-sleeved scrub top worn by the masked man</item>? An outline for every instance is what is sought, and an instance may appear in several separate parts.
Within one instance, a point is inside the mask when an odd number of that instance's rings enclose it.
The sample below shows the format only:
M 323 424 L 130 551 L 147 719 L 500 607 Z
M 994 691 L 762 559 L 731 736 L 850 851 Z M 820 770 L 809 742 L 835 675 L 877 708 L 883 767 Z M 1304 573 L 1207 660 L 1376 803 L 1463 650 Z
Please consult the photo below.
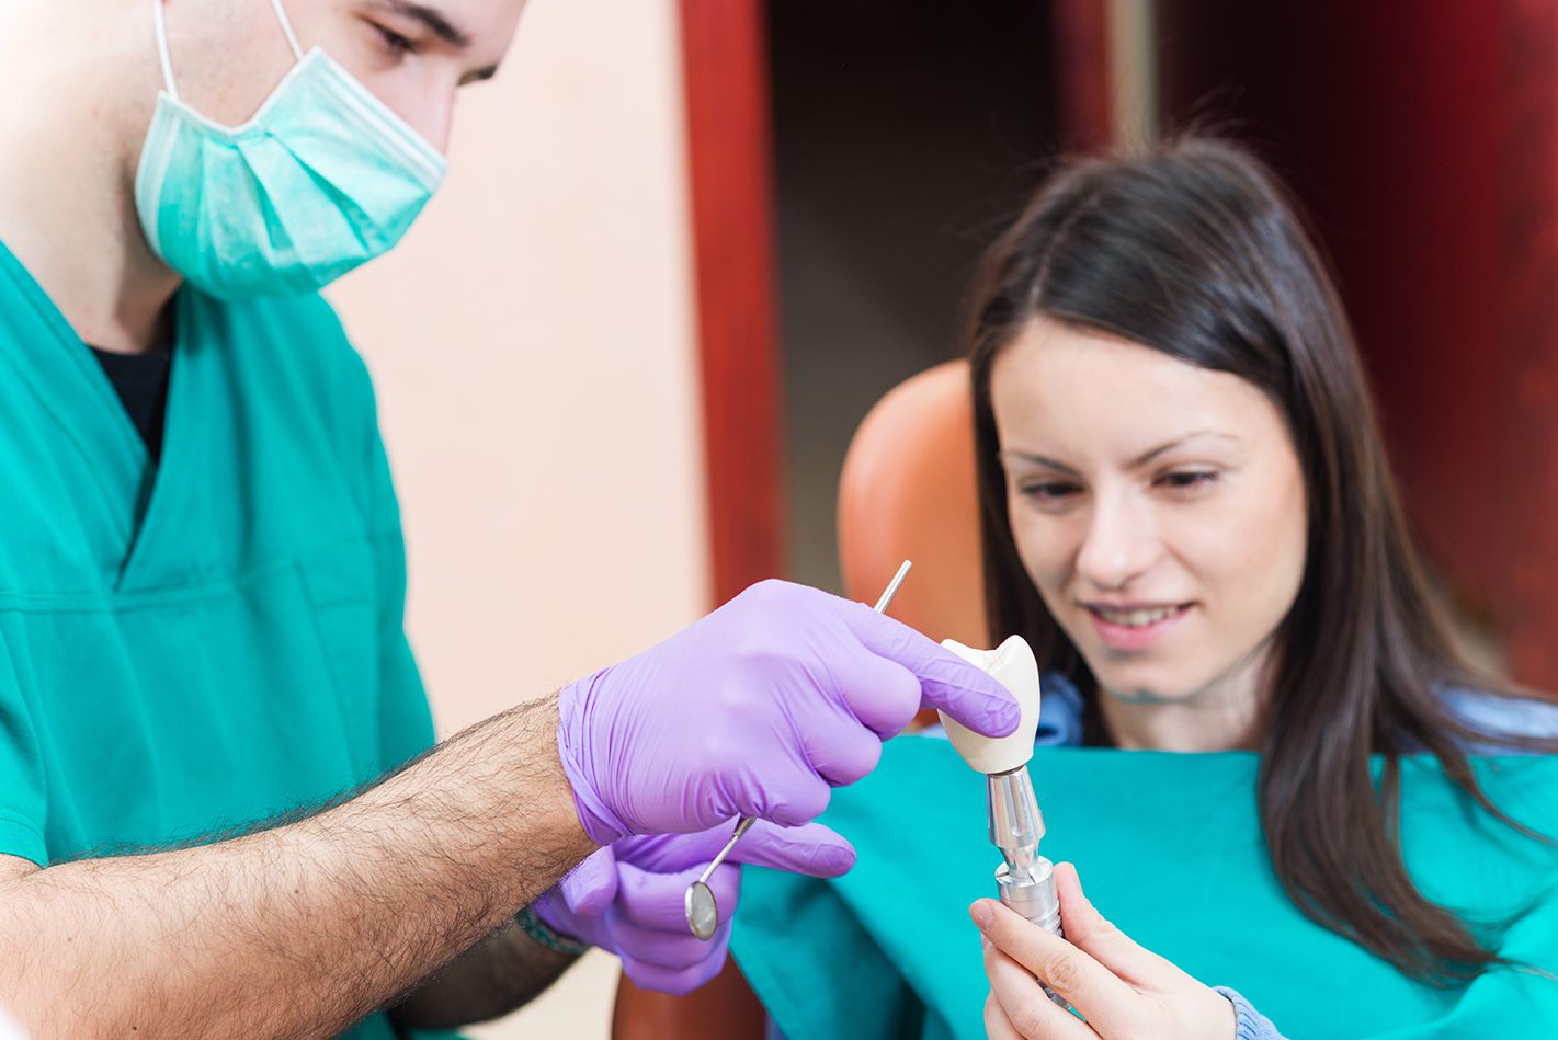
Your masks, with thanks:
M 159 466 L 0 244 L 0 853 L 45 867 L 318 805 L 433 743 L 340 322 L 315 296 L 173 305 Z

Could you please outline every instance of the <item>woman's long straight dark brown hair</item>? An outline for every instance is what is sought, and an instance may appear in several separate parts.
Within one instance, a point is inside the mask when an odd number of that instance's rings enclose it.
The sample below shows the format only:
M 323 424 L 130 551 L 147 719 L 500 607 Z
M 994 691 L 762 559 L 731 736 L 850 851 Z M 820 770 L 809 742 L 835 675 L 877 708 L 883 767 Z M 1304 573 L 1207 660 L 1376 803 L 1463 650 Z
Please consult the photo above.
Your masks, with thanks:
M 1471 800 L 1532 834 L 1488 800 L 1463 750 L 1499 735 L 1461 721 L 1440 691 L 1524 694 L 1477 674 L 1452 648 L 1352 332 L 1276 177 L 1237 145 L 1197 137 L 1063 163 L 988 252 L 971 304 L 991 645 L 1025 635 L 1041 668 L 1081 690 L 1089 743 L 1109 743 L 1097 683 L 1013 540 L 991 411 L 1002 349 L 1044 316 L 1250 381 L 1287 423 L 1309 503 L 1306 571 L 1274 634 L 1257 727 L 1260 819 L 1276 873 L 1309 917 L 1413 978 L 1449 986 L 1503 964 L 1407 875 L 1394 824 L 1398 757 L 1436 755 Z M 1377 789 L 1371 754 L 1384 755 Z

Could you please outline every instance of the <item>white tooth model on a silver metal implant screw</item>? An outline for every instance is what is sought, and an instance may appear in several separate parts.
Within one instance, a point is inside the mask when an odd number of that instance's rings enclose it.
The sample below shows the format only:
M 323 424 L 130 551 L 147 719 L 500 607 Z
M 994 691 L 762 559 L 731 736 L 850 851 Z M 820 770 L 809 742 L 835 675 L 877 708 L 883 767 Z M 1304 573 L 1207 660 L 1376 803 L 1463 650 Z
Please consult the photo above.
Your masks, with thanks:
M 988 671 L 1011 691 L 1022 708 L 1017 729 L 999 738 L 982 736 L 946 715 L 941 716 L 941 724 L 963 761 L 985 774 L 989 844 L 1000 850 L 1003 859 L 996 867 L 1000 901 L 1050 934 L 1063 936 L 1055 864 L 1039 855 L 1044 816 L 1039 814 L 1039 802 L 1033 794 L 1033 777 L 1028 775 L 1033 735 L 1039 729 L 1039 663 L 1033 657 L 1033 648 L 1020 635 L 1008 637 L 992 651 L 972 649 L 955 640 L 944 640 L 941 645 Z M 1044 993 L 1061 1007 L 1067 1006 L 1066 998 L 1049 986 Z

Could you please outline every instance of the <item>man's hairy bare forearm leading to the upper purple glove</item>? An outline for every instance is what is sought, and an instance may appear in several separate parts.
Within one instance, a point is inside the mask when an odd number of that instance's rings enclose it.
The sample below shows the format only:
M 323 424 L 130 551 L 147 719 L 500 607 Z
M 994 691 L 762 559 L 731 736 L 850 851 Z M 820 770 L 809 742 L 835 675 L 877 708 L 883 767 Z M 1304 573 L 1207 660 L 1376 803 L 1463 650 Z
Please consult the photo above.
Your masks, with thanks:
M 556 724 L 506 711 L 274 830 L 0 875 L 0 1006 L 34 1040 L 335 1035 L 594 849 Z

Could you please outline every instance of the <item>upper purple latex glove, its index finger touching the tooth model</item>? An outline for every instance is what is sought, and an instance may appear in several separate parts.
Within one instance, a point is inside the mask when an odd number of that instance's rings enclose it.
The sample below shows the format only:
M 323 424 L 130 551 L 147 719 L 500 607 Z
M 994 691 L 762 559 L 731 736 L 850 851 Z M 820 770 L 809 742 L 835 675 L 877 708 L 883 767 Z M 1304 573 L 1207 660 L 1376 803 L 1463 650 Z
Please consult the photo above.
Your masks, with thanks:
M 999 682 L 871 607 L 765 581 L 659 646 L 567 687 L 558 749 L 584 831 L 798 825 L 876 768 L 921 707 L 1003 736 Z

